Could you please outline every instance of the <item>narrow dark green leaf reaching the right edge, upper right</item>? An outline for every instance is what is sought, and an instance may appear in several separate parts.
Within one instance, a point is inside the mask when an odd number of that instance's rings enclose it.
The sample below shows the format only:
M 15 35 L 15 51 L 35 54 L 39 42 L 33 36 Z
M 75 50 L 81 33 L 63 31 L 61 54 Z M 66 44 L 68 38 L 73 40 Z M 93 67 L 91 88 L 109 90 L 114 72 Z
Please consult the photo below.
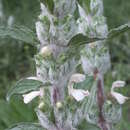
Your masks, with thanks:
M 124 24 L 124 25 L 121 25 L 117 28 L 114 28 L 114 29 L 111 29 L 108 33 L 108 39 L 111 39 L 111 38 L 114 38 L 126 31 L 130 30 L 130 24 Z

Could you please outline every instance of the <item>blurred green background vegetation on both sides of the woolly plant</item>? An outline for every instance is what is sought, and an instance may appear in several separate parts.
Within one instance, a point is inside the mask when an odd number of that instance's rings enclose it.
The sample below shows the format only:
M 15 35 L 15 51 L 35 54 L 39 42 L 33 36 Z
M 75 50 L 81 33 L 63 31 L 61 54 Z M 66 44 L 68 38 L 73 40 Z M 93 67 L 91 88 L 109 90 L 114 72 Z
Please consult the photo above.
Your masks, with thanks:
M 109 29 L 130 21 L 130 0 L 104 0 L 104 15 Z M 40 12 L 38 0 L 0 0 L 0 26 L 26 25 L 35 30 Z M 125 80 L 127 87 L 120 90 L 130 97 L 130 32 L 108 43 L 112 68 L 105 76 L 109 89 L 114 80 Z M 8 89 L 20 78 L 33 75 L 36 49 L 26 43 L 10 38 L 0 39 L 0 130 L 13 123 L 34 121 L 33 104 L 24 105 L 21 97 L 6 102 Z M 130 130 L 130 101 L 123 105 L 123 118 L 117 130 Z

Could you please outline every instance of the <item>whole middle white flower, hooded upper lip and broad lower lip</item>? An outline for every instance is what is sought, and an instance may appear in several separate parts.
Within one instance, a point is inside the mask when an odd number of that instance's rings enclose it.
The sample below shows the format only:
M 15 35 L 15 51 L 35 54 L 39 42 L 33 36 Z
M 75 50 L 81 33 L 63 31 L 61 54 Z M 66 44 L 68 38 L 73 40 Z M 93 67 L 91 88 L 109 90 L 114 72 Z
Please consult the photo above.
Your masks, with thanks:
M 89 95 L 89 91 L 88 90 L 74 89 L 73 88 L 74 83 L 83 82 L 85 80 L 85 78 L 86 78 L 85 75 L 78 74 L 78 73 L 72 75 L 71 78 L 70 78 L 69 85 L 68 85 L 68 93 L 69 93 L 69 95 L 74 97 L 77 101 L 81 101 L 86 96 Z

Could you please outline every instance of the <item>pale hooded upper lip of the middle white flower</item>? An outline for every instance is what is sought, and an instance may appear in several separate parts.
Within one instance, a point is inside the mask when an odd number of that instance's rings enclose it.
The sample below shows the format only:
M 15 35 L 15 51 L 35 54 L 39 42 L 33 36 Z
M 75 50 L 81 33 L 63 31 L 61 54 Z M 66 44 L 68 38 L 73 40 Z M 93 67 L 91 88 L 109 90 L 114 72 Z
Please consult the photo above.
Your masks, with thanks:
M 84 74 L 73 74 L 70 78 L 70 82 L 79 83 L 84 81 L 86 76 Z

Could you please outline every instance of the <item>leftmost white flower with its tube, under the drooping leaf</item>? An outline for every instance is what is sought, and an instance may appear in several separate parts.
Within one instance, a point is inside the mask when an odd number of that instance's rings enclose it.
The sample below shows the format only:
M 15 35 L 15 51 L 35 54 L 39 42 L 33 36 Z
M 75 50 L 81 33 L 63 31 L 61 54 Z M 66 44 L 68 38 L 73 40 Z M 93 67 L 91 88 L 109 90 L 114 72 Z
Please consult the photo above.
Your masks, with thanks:
M 23 100 L 25 104 L 28 104 L 29 102 L 31 102 L 34 98 L 36 97 L 43 97 L 44 95 L 44 90 L 43 88 L 40 88 L 39 91 L 32 91 L 30 93 L 27 94 L 23 94 Z

